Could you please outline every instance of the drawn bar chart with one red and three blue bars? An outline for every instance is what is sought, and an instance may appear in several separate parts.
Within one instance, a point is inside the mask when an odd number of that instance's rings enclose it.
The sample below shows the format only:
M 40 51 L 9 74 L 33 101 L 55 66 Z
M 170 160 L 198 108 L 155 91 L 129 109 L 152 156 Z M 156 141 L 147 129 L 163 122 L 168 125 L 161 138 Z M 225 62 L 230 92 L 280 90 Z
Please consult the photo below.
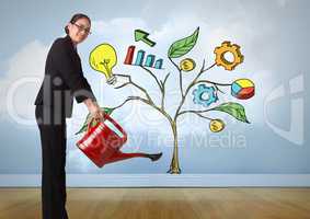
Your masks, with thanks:
M 162 69 L 163 66 L 163 59 L 157 59 L 156 56 L 150 54 L 146 56 L 146 51 L 142 49 L 139 49 L 136 56 L 135 64 L 133 64 L 133 58 L 135 54 L 135 46 L 129 46 L 126 55 L 126 59 L 124 61 L 125 65 L 131 65 L 131 66 L 145 66 L 149 68 L 156 68 L 156 69 Z M 145 60 L 146 57 L 146 60 Z

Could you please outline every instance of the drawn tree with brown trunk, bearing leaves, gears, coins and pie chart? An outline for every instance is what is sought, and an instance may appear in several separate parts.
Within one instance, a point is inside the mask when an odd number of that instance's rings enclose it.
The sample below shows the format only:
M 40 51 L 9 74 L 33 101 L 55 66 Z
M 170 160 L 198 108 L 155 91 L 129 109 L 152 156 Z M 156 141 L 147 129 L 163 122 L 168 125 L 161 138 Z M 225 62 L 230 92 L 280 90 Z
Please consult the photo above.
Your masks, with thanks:
M 152 78 L 154 83 L 157 83 L 160 90 L 161 103 L 156 104 L 152 97 L 149 95 L 148 90 L 134 82 L 130 76 L 114 74 L 116 77 L 117 76 L 127 77 L 128 79 L 128 82 L 119 87 L 116 87 L 115 89 L 122 89 L 124 87 L 133 85 L 139 91 L 141 91 L 143 93 L 143 96 L 131 95 L 128 96 L 122 104 L 117 106 L 103 107 L 105 113 L 112 114 L 115 110 L 120 108 L 130 101 L 139 101 L 151 106 L 153 110 L 159 112 L 163 117 L 165 117 L 170 124 L 174 139 L 173 154 L 172 154 L 170 168 L 168 170 L 168 173 L 171 174 L 181 173 L 181 165 L 179 159 L 179 141 L 177 141 L 177 120 L 180 119 L 181 116 L 184 116 L 185 114 L 195 114 L 204 119 L 209 120 L 209 128 L 213 132 L 219 132 L 223 130 L 226 125 L 222 119 L 213 118 L 209 115 L 208 116 L 206 115 L 211 112 L 223 112 L 240 122 L 250 123 L 245 116 L 244 107 L 241 104 L 236 102 L 227 102 L 221 104 L 217 104 L 217 103 L 219 101 L 218 93 L 219 92 L 223 93 L 222 90 L 220 89 L 222 87 L 230 87 L 231 94 L 239 100 L 245 100 L 252 97 L 254 95 L 254 83 L 251 80 L 238 79 L 232 83 L 219 83 L 203 78 L 206 71 L 215 68 L 216 66 L 223 67 L 228 71 L 234 70 L 234 68 L 238 65 L 242 64 L 244 59 L 240 51 L 240 46 L 236 44 L 231 44 L 230 42 L 223 42 L 221 46 L 216 47 L 214 50 L 215 54 L 214 64 L 206 67 L 206 61 L 203 60 L 200 69 L 196 72 L 194 79 L 187 85 L 183 84 L 184 72 L 193 71 L 196 68 L 196 62 L 192 58 L 185 58 L 181 60 L 180 64 L 177 65 L 175 59 L 184 57 L 195 47 L 198 39 L 198 35 L 199 35 L 199 27 L 197 27 L 192 35 L 175 41 L 168 49 L 168 59 L 175 67 L 175 70 L 179 73 L 179 87 L 180 87 L 180 95 L 181 95 L 181 101 L 177 104 L 177 108 L 173 115 L 170 115 L 167 112 L 167 107 L 165 107 L 165 100 L 169 99 L 169 96 L 167 96 L 167 81 L 169 80 L 171 72 L 167 73 L 163 80 L 159 80 L 157 76 L 152 72 L 152 70 L 150 70 L 145 66 L 140 66 L 140 68 L 143 69 Z M 226 59 L 227 53 L 230 53 L 233 56 L 232 61 Z M 193 95 L 193 102 L 195 104 L 199 104 L 202 106 L 202 110 L 183 110 L 185 100 L 188 97 L 190 94 Z M 88 115 L 85 123 L 77 134 L 85 131 L 89 118 L 90 115 Z

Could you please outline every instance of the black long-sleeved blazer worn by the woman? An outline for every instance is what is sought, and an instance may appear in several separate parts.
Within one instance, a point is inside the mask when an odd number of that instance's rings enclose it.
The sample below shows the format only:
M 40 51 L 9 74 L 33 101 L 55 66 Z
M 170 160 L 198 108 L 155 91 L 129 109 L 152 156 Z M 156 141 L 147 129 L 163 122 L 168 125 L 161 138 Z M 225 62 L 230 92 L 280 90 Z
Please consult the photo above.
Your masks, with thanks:
M 83 77 L 81 59 L 67 35 L 57 38 L 48 51 L 44 80 L 34 104 L 49 106 L 66 117 L 71 117 L 73 97 L 78 103 L 88 97 L 96 101 Z

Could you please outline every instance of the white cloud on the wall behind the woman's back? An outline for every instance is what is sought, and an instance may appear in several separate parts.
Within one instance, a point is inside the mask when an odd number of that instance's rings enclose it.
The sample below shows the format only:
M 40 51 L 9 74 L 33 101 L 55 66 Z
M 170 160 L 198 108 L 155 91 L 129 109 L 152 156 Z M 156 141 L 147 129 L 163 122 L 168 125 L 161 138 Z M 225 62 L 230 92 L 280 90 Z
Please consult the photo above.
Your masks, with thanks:
M 9 59 L 8 71 L 0 81 L 3 117 L 13 116 L 10 120 L 16 123 L 34 123 L 34 100 L 44 77 L 47 49 L 48 46 L 33 41 Z

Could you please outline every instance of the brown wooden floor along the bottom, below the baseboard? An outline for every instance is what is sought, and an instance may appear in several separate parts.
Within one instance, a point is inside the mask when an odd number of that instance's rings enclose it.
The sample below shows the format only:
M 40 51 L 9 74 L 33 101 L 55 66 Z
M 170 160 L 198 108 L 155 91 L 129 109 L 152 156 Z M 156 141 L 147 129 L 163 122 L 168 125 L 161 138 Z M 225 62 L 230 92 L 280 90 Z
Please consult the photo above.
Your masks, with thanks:
M 70 219 L 310 219 L 310 188 L 68 188 Z M 41 218 L 38 188 L 0 188 L 0 219 Z

